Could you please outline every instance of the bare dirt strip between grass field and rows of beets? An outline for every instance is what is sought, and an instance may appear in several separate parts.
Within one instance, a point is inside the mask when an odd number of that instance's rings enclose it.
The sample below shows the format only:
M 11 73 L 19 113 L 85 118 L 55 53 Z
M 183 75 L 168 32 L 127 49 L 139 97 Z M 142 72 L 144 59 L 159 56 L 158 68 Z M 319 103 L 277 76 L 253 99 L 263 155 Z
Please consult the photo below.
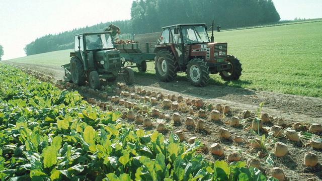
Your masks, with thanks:
M 6 63 L 12 64 L 6 61 Z M 17 65 L 17 64 L 16 64 Z M 62 79 L 64 71 L 60 67 L 36 66 L 31 64 L 19 64 L 28 69 L 33 69 Z M 119 78 L 118 81 L 122 81 Z M 151 74 L 136 74 L 136 86 L 144 86 L 156 92 L 183 95 L 185 97 L 198 97 L 211 104 L 227 104 L 236 110 L 251 110 L 256 112 L 261 102 L 265 102 L 263 112 L 273 117 L 284 119 L 288 123 L 321 123 L 322 99 L 302 97 L 264 91 L 253 91 L 245 88 L 230 86 L 208 85 L 206 87 L 194 87 L 188 81 L 174 80 L 172 82 L 160 82 Z

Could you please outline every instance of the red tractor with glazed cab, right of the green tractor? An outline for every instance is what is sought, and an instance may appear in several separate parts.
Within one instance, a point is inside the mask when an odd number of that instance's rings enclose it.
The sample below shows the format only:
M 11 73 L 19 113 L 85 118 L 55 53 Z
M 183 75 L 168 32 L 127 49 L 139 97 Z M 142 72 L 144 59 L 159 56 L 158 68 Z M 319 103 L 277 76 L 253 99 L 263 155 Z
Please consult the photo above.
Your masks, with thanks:
M 227 43 L 214 43 L 205 24 L 179 24 L 162 28 L 154 49 L 155 73 L 161 81 L 173 80 L 177 72 L 186 72 L 191 84 L 205 86 L 209 74 L 219 73 L 224 80 L 241 75 L 239 60 L 227 54 Z

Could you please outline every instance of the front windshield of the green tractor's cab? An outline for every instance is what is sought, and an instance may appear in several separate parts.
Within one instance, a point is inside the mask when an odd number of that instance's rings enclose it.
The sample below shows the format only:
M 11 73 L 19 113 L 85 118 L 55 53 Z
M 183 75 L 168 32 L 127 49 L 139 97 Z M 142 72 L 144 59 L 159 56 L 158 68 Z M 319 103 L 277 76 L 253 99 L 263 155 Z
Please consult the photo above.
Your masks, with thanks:
M 114 48 L 112 36 L 109 33 L 86 35 L 86 50 Z

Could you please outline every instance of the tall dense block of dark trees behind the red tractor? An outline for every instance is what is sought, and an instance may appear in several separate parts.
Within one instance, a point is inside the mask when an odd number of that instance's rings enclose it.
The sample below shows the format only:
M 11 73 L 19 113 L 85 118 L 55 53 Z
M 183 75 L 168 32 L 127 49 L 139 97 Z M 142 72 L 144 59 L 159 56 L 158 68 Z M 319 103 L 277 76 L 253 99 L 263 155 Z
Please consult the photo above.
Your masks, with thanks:
M 140 0 L 131 8 L 133 31 L 150 33 L 179 23 L 206 23 L 222 28 L 278 22 L 272 0 Z

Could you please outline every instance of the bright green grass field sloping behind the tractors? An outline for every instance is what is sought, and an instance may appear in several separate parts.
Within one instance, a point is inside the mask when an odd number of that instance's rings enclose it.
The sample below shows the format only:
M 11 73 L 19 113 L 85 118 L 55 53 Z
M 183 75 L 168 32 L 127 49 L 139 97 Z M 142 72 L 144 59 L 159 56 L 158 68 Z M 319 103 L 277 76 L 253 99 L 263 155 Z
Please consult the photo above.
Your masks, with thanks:
M 240 59 L 243 75 L 231 82 L 211 75 L 210 84 L 322 97 L 322 22 L 216 32 L 215 41 L 228 42 L 228 53 Z M 10 61 L 59 67 L 69 62 L 69 51 Z M 153 62 L 147 72 L 154 74 Z

